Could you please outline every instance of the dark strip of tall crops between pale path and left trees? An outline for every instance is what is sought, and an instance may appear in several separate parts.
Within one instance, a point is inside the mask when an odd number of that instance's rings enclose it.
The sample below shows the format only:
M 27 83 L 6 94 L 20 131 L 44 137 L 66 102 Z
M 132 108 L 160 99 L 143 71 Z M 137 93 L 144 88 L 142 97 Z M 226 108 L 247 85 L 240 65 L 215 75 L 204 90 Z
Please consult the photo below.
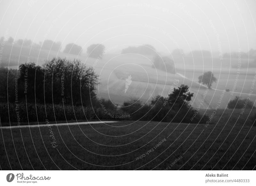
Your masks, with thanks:
M 110 113 L 110 114 L 108 114 Z M 33 121 L 63 121 L 63 120 L 129 120 L 128 117 L 116 117 L 127 115 L 121 110 L 108 109 L 105 113 L 102 108 L 92 108 L 72 105 L 51 105 L 31 103 L 0 103 L 1 123 L 12 122 L 18 125 L 21 122 Z M 16 124 L 15 124 L 16 123 Z

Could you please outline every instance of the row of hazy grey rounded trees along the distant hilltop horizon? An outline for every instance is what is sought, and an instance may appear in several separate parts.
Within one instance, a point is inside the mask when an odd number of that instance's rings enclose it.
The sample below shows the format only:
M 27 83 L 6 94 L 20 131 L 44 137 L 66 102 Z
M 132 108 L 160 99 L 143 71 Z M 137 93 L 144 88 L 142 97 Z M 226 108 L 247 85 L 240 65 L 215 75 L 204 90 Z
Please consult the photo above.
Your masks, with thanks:
M 4 37 L 0 38 L 0 42 L 2 43 L 4 40 Z M 61 42 L 54 42 L 52 40 L 44 40 L 44 42 L 33 43 L 31 40 L 28 39 L 18 39 L 17 41 L 14 41 L 12 37 L 9 37 L 6 40 L 6 43 L 9 44 L 17 44 L 22 46 L 32 46 L 34 49 L 45 49 L 45 50 L 52 50 L 52 51 L 60 51 L 61 50 Z M 89 57 L 92 58 L 101 58 L 100 54 L 104 52 L 105 46 L 102 44 L 92 44 L 87 48 L 87 53 L 89 54 Z M 63 50 L 64 53 L 74 54 L 74 55 L 80 55 L 82 52 L 82 47 L 75 44 L 75 43 L 69 43 L 66 45 L 65 49 Z M 157 55 L 156 49 L 149 44 L 143 44 L 140 46 L 129 46 L 127 48 L 124 48 L 121 51 L 121 54 L 128 54 L 128 53 L 135 53 L 135 54 L 141 54 L 141 55 Z M 241 58 L 256 58 L 256 50 L 251 49 L 248 52 L 231 52 L 231 53 L 224 53 L 223 58 L 232 58 L 232 57 L 239 57 Z M 189 52 L 187 55 L 184 53 L 184 51 L 180 48 L 174 49 L 172 51 L 172 56 L 193 56 L 193 57 L 206 57 L 211 58 L 212 53 L 208 50 L 193 50 Z

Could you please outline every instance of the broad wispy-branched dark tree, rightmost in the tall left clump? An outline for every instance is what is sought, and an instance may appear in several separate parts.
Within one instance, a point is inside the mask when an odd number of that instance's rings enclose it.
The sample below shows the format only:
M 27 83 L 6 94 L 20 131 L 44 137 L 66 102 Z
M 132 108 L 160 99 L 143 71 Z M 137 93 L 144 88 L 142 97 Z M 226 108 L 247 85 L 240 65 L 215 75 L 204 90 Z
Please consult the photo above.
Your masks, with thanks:
M 72 105 L 91 105 L 96 99 L 98 75 L 81 60 L 53 58 L 44 63 L 45 101 Z

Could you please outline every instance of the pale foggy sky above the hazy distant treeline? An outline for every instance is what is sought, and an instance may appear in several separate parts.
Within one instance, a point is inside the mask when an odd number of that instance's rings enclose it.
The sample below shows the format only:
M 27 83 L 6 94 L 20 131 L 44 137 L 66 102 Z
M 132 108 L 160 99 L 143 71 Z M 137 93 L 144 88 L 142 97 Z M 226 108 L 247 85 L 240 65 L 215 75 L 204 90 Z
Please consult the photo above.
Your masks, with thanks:
M 160 3 L 161 2 L 161 3 Z M 195 3 L 193 3 L 195 2 Z M 151 44 L 223 52 L 256 49 L 256 1 L 20 1 L 0 3 L 0 36 L 121 50 Z

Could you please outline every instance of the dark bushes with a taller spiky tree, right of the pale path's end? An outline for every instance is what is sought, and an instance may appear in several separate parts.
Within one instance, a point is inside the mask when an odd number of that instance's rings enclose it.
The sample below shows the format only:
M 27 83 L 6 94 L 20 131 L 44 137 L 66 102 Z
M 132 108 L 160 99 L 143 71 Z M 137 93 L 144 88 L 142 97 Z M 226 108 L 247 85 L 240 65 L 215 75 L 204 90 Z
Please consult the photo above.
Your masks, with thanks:
M 206 123 L 208 117 L 200 115 L 189 105 L 192 96 L 188 86 L 181 85 L 178 89 L 174 88 L 166 98 L 158 95 L 148 105 L 132 98 L 124 102 L 121 109 L 130 113 L 132 120 Z

